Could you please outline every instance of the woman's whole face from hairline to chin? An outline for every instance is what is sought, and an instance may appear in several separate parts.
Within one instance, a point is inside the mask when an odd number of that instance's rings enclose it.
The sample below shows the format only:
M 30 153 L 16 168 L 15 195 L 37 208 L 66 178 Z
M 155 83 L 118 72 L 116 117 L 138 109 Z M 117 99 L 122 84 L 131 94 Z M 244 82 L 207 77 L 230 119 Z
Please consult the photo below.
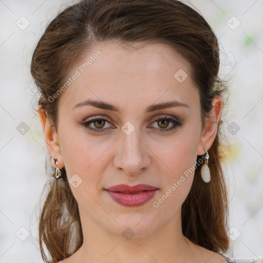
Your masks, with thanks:
M 68 77 L 54 137 L 59 151 L 52 156 L 65 165 L 82 227 L 92 222 L 117 235 L 126 229 L 145 236 L 179 224 L 197 155 L 204 154 L 190 65 L 163 44 L 129 51 L 109 43 L 97 45 Z M 119 184 L 157 190 L 107 191 Z

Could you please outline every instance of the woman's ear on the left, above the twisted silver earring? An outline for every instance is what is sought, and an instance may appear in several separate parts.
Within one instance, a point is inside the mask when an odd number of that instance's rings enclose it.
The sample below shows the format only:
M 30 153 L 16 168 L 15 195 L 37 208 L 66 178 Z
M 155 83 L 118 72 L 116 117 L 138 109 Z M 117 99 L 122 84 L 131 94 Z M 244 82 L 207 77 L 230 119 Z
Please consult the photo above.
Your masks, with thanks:
M 51 159 L 52 166 L 54 168 L 57 167 L 53 159 L 53 158 L 57 158 L 59 162 L 59 168 L 62 168 L 64 166 L 64 162 L 61 154 L 58 133 L 55 132 L 55 128 L 50 125 L 48 121 L 48 117 L 46 116 L 45 111 L 42 109 L 41 106 L 39 106 L 38 111 L 39 111 L 41 126 L 44 132 L 47 151 L 52 156 Z

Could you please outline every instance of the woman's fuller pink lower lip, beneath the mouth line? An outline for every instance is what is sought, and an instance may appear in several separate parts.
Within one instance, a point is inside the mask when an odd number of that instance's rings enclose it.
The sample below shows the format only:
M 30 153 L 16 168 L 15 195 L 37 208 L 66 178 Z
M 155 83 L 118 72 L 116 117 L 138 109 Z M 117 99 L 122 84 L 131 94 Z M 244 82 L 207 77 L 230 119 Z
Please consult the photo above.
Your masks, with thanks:
M 143 191 L 138 194 L 124 194 L 120 192 L 107 191 L 110 197 L 119 204 L 126 206 L 139 206 L 151 200 L 158 189 Z

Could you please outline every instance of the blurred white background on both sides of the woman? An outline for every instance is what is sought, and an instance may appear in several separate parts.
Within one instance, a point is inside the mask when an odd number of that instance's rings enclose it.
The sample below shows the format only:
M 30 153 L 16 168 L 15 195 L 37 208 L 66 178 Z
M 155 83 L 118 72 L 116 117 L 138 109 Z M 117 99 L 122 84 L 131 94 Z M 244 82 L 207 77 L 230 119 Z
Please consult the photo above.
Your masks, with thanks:
M 77 1 L 0 0 L 0 263 L 43 262 L 37 213 L 47 180 L 46 147 L 39 116 L 32 109 L 37 93 L 30 59 L 47 23 L 72 3 Z M 263 2 L 190 3 L 219 38 L 221 77 L 232 76 L 222 124 L 233 240 L 228 255 L 262 257 Z M 21 130 L 22 126 L 28 128 Z

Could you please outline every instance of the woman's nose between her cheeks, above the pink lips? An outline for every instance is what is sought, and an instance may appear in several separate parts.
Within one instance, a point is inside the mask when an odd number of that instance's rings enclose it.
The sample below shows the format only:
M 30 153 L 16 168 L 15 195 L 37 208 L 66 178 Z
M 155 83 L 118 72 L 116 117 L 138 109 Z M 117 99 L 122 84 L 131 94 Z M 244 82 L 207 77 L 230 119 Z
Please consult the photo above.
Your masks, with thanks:
M 122 133 L 122 132 L 121 132 Z M 137 175 L 149 167 L 151 152 L 146 142 L 139 137 L 135 129 L 131 134 L 122 133 L 118 140 L 114 166 L 128 175 Z

